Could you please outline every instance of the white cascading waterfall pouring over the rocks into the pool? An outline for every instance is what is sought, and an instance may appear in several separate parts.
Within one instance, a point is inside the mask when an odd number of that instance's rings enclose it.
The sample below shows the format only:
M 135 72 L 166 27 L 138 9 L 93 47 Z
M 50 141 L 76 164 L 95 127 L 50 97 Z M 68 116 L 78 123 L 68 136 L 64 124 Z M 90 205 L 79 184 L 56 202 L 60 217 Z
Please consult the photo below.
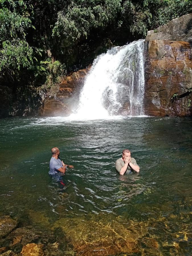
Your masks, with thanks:
M 98 56 L 80 95 L 75 117 L 100 119 L 143 115 L 144 40 L 114 47 Z

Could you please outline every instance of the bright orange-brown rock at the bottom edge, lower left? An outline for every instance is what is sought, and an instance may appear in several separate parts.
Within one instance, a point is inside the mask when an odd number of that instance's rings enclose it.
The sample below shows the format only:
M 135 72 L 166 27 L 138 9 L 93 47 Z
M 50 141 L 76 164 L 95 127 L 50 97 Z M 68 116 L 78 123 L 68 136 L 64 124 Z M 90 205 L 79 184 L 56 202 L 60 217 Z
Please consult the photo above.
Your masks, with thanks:
M 43 256 L 43 245 L 36 243 L 28 243 L 22 248 L 20 254 L 23 256 Z

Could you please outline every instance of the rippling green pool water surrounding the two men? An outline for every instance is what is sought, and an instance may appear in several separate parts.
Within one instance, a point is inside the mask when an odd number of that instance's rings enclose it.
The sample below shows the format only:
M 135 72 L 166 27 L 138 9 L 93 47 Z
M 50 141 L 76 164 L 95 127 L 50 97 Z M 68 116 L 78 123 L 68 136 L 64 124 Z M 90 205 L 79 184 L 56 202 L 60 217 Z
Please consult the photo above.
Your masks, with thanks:
M 192 119 L 11 118 L 0 127 L 1 213 L 61 227 L 74 255 L 191 255 Z M 74 166 L 64 187 L 48 175 L 54 146 Z M 115 171 L 124 148 L 139 174 Z

